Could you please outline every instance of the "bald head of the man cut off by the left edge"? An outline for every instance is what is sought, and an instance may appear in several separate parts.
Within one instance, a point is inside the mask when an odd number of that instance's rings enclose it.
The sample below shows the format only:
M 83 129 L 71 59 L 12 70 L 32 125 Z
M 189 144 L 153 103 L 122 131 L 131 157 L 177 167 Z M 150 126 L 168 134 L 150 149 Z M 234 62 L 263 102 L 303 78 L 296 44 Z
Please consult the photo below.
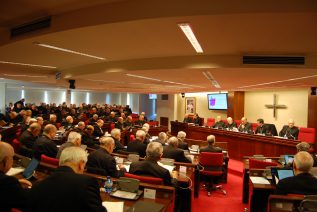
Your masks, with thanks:
M 5 142 L 0 142 L 0 171 L 7 173 L 13 164 L 14 149 Z

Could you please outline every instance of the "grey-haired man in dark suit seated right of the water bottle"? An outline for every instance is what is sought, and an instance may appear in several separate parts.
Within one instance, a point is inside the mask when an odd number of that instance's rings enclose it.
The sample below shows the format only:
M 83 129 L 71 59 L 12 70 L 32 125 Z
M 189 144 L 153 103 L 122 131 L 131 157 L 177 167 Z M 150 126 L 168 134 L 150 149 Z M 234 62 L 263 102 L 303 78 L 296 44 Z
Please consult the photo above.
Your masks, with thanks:
M 135 175 L 162 178 L 164 185 L 176 184 L 176 179 L 171 177 L 169 171 L 157 163 L 161 159 L 162 153 L 162 144 L 151 142 L 146 148 L 145 160 L 133 162 L 130 165 L 129 172 Z

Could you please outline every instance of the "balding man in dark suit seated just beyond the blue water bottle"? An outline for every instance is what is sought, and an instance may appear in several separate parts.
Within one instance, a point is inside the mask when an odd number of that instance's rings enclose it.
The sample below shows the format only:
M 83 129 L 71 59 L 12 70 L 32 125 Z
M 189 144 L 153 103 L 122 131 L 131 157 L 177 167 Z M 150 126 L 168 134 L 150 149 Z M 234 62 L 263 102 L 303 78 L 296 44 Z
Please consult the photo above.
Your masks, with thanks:
M 113 138 L 102 137 L 100 148 L 88 156 L 87 170 L 104 176 L 122 177 L 126 170 L 122 164 L 119 165 L 120 170 L 117 170 L 116 160 L 111 156 L 114 147 Z

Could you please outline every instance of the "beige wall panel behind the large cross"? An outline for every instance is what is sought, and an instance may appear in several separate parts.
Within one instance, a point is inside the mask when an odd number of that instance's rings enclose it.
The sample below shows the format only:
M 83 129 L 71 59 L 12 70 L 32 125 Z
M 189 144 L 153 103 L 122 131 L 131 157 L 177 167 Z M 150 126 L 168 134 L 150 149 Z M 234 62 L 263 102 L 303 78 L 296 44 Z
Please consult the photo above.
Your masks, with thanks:
M 273 95 L 277 95 L 277 104 L 286 105 L 286 109 L 278 109 L 276 119 L 273 110 L 264 105 L 273 104 Z M 288 89 L 277 91 L 247 91 L 244 100 L 244 115 L 249 122 L 263 118 L 266 123 L 276 125 L 278 131 L 292 118 L 295 125 L 307 127 L 308 89 Z

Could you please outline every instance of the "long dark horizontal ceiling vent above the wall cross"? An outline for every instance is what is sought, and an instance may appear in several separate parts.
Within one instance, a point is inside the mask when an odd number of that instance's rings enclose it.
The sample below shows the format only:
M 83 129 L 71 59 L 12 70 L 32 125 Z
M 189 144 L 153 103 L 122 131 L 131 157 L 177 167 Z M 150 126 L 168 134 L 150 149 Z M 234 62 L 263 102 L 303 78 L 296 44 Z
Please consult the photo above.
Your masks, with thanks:
M 302 56 L 243 56 L 243 64 L 305 65 Z

